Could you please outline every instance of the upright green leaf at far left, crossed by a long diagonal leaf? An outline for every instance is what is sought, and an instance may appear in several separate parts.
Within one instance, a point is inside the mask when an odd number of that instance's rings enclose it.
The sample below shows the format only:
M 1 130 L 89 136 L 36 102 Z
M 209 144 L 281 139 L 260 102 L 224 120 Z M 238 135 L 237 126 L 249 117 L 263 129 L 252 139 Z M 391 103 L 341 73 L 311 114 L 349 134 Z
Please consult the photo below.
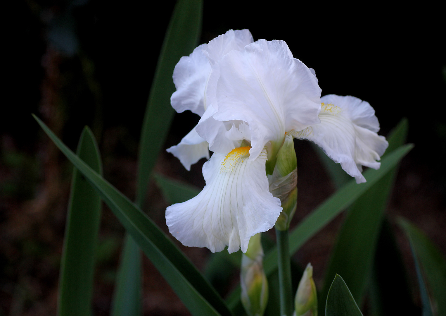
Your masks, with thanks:
M 92 170 L 102 174 L 98 145 L 88 127 L 82 131 L 77 154 Z M 100 218 L 99 194 L 74 168 L 60 266 L 58 315 L 91 315 Z

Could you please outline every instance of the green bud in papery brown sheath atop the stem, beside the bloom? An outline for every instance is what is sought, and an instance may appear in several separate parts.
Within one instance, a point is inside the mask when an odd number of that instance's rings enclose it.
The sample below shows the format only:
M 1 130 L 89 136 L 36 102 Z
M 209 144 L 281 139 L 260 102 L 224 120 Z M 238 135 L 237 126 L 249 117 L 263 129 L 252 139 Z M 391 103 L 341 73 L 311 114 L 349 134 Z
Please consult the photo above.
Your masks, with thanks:
M 268 176 L 269 191 L 281 200 L 282 212 L 277 218 L 276 228 L 289 229 L 289 223 L 297 207 L 297 159 L 293 137 L 285 136 L 285 141 L 277 154 L 273 175 Z

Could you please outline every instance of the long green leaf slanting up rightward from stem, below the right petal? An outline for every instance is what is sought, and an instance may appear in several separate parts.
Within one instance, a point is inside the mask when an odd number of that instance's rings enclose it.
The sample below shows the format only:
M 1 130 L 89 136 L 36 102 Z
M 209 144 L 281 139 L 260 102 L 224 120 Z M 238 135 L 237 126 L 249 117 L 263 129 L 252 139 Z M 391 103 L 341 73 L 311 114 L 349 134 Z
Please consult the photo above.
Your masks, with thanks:
M 378 182 L 384 175 L 413 148 L 412 144 L 404 145 L 381 159 L 381 167 L 378 170 L 368 169 L 363 175 L 366 183 L 356 184 L 351 180 L 341 189 L 331 195 L 318 208 L 308 214 L 297 228 L 289 236 L 289 252 L 294 254 L 306 241 L 314 236 L 320 229 L 330 222 L 340 212 L 355 202 L 365 191 Z M 273 248 L 264 258 L 264 270 L 270 275 L 277 269 L 277 248 Z M 234 296 L 231 296 L 234 297 Z M 237 302 L 227 299 L 229 306 L 236 306 Z

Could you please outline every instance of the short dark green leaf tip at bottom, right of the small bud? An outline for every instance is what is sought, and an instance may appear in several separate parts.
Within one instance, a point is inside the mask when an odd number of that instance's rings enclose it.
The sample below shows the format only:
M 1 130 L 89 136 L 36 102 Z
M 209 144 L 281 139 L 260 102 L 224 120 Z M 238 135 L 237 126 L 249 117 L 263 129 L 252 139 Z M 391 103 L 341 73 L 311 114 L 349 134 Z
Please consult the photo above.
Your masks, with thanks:
M 344 280 L 335 275 L 325 304 L 326 316 L 363 316 Z

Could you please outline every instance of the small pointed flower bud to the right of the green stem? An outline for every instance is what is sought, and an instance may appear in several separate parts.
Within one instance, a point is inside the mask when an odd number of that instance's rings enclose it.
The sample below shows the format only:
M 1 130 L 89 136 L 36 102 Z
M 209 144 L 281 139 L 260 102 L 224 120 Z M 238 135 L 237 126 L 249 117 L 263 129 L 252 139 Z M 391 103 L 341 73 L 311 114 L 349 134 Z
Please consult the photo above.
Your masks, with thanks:
M 294 298 L 296 316 L 318 316 L 318 294 L 313 280 L 313 267 L 309 263 L 302 275 Z

